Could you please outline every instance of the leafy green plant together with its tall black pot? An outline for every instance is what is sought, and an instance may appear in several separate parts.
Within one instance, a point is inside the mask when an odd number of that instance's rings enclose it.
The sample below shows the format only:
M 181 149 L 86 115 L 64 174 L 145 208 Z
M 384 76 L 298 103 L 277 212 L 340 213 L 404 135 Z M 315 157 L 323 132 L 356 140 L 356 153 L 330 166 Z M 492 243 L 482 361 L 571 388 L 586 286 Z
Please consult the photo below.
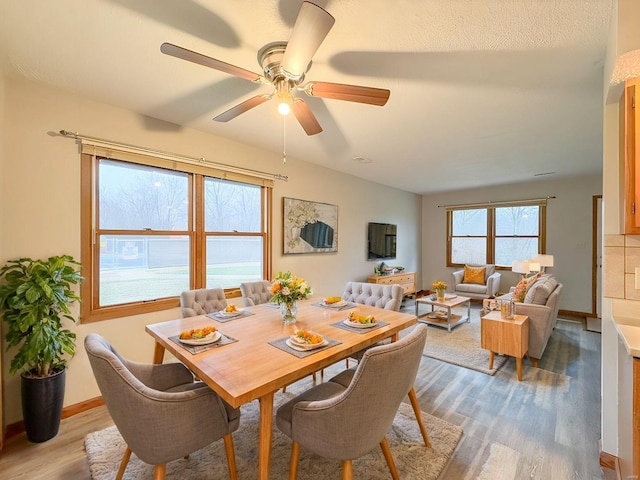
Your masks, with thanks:
M 75 353 L 75 323 L 69 305 L 80 297 L 72 286 L 82 279 L 69 255 L 46 260 L 20 258 L 0 269 L 0 310 L 5 339 L 18 347 L 9 372 L 21 374 L 22 415 L 27 438 L 44 442 L 58 433 L 64 401 L 67 357 Z

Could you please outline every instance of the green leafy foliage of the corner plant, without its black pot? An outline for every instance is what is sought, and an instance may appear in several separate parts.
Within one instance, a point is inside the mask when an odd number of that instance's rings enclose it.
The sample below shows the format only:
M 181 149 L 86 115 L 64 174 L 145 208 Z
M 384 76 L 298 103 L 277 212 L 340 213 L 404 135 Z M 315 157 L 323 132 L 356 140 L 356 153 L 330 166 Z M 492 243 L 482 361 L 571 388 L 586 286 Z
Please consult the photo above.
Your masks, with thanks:
M 7 322 L 8 346 L 18 348 L 9 371 L 47 377 L 66 367 L 75 354 L 76 334 L 63 327 L 75 323 L 69 305 L 80 301 L 72 285 L 82 280 L 80 263 L 69 255 L 46 260 L 20 258 L 0 269 L 0 309 Z

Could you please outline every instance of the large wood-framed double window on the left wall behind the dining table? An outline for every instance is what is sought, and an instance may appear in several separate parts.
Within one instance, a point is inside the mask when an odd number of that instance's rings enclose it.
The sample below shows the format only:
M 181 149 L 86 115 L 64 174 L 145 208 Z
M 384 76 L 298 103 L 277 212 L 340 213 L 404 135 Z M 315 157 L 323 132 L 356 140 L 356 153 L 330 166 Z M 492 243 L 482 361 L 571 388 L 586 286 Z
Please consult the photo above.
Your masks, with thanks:
M 83 321 L 172 308 L 194 288 L 236 296 L 269 278 L 262 180 L 135 160 L 82 155 Z

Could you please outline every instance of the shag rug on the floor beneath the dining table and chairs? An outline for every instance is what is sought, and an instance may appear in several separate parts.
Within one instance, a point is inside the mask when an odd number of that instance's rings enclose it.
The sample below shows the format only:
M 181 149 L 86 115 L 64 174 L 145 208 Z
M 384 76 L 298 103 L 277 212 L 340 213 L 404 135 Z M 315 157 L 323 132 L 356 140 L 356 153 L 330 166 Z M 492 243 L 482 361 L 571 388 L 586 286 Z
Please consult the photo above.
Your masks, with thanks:
M 287 388 L 286 393 L 277 393 L 278 405 L 292 398 L 302 390 L 300 383 Z M 308 388 L 309 385 L 306 385 Z M 258 417 L 257 401 L 242 406 L 240 427 L 233 434 L 236 451 L 238 476 L 242 479 L 256 479 L 258 475 Z M 462 436 L 462 429 L 444 420 L 422 412 L 432 448 L 426 448 L 418 429 L 413 409 L 401 404 L 387 440 L 394 461 L 403 480 L 435 480 L 446 467 Z M 85 439 L 85 449 L 89 470 L 93 480 L 112 480 L 118 471 L 126 446 L 115 426 L 89 434 Z M 287 478 L 291 440 L 273 427 L 270 477 Z M 387 480 L 389 469 L 380 448 L 353 461 L 356 478 Z M 187 459 L 174 460 L 167 464 L 167 479 L 200 480 L 228 478 L 227 460 L 222 440 L 214 442 Z M 341 478 L 341 463 L 327 460 L 301 449 L 298 477 L 309 480 Z M 153 478 L 153 466 L 131 455 L 124 478 L 142 480 Z

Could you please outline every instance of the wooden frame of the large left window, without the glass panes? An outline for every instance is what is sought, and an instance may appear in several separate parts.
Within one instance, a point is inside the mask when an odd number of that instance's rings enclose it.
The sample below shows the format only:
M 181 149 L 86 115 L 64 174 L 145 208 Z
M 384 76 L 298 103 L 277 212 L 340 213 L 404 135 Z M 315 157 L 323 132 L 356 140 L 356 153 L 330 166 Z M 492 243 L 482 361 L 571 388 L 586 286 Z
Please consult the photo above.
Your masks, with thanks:
M 84 145 L 83 145 L 84 147 Z M 102 154 L 101 154 L 102 153 Z M 120 158 L 122 157 L 122 158 Z M 138 230 L 99 230 L 98 221 L 98 163 L 101 158 L 108 160 L 122 161 L 125 163 L 136 163 L 155 168 L 179 171 L 189 175 L 188 195 L 189 221 L 188 231 L 178 232 L 180 235 L 187 235 L 190 240 L 190 289 L 206 288 L 206 239 L 211 235 L 224 236 L 252 236 L 262 237 L 262 275 L 263 278 L 271 278 L 272 268 L 272 203 L 273 203 L 273 182 L 258 177 L 242 175 L 237 173 L 223 172 L 217 168 L 208 168 L 202 165 L 181 164 L 175 160 L 163 160 L 161 158 L 147 157 L 140 154 L 122 152 L 121 155 L 109 151 L 87 152 L 83 149 L 81 153 L 81 263 L 84 280 L 80 285 L 82 303 L 80 305 L 80 322 L 90 323 L 95 321 L 109 320 L 113 318 L 127 317 L 152 313 L 161 310 L 168 310 L 180 306 L 180 294 L 175 296 L 158 298 L 154 300 L 135 301 L 118 305 L 100 306 L 100 246 L 99 236 L 104 234 L 144 234 L 144 235 L 175 235 L 175 231 L 138 231 Z M 261 187 L 261 219 L 260 232 L 205 232 L 204 231 L 204 184 L 205 178 L 218 178 L 226 181 L 237 181 L 238 183 L 249 183 Z M 241 296 L 240 286 L 225 288 L 227 298 Z

